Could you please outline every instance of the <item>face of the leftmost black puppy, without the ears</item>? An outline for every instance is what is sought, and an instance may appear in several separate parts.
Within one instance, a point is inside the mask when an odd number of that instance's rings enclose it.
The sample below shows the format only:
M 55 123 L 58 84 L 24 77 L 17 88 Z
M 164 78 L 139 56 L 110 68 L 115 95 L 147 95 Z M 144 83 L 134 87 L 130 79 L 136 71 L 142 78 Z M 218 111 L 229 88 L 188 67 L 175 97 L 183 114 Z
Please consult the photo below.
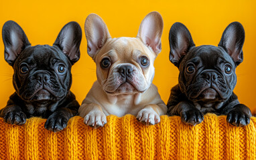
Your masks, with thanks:
M 26 101 L 58 101 L 72 83 L 70 61 L 60 49 L 49 45 L 24 49 L 13 69 L 15 89 Z

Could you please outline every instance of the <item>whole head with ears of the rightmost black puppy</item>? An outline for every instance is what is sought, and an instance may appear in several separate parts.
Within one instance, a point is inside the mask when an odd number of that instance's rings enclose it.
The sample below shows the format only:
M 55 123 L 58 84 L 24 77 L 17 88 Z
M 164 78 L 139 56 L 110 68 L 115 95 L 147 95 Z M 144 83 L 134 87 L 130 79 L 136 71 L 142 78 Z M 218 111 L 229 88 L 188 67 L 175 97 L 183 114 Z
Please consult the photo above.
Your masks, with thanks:
M 218 47 L 194 47 L 188 29 L 175 23 L 170 30 L 170 61 L 179 67 L 179 85 L 190 101 L 213 103 L 231 97 L 237 83 L 235 69 L 243 61 L 245 33 L 240 23 L 225 29 Z

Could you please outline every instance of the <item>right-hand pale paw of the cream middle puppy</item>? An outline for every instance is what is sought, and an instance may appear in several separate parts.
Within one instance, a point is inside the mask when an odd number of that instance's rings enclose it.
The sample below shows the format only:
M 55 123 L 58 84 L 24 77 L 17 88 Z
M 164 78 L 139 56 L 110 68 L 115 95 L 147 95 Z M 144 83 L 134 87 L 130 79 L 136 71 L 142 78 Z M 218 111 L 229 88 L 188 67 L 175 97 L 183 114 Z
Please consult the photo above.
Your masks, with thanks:
M 160 116 L 153 109 L 141 109 L 137 115 L 137 120 L 145 125 L 155 125 L 160 122 Z

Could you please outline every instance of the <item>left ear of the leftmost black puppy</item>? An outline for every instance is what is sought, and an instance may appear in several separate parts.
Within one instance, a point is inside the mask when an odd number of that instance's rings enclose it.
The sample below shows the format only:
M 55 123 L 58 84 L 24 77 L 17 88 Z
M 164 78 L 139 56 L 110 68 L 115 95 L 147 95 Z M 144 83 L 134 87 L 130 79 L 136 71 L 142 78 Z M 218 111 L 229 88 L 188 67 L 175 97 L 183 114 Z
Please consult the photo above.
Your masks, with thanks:
M 7 21 L 3 25 L 3 44 L 5 45 L 5 61 L 13 66 L 18 55 L 30 46 L 23 29 L 15 21 Z

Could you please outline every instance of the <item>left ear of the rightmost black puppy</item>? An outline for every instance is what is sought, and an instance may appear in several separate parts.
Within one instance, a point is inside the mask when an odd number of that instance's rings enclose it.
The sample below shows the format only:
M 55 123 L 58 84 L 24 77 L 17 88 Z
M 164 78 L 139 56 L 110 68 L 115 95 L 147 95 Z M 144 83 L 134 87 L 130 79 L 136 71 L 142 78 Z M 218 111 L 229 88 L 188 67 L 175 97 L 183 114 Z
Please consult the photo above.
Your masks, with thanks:
M 191 47 L 194 47 L 194 41 L 191 37 L 190 31 L 182 23 L 176 22 L 172 25 L 169 32 L 170 42 L 170 61 L 176 67 L 180 64 L 180 60 Z

